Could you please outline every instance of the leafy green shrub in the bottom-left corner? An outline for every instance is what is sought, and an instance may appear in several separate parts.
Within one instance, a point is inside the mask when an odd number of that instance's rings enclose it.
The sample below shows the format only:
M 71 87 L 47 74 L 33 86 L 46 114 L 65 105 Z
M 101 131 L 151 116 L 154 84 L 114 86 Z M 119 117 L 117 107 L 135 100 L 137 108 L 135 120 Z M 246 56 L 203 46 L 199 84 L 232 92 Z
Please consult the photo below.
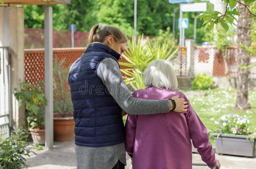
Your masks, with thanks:
M 11 136 L 6 139 L 0 136 L 0 169 L 23 169 L 28 167 L 24 156 L 30 156 L 30 153 L 34 153 L 26 149 L 28 136 L 29 132 L 25 129 L 12 131 Z

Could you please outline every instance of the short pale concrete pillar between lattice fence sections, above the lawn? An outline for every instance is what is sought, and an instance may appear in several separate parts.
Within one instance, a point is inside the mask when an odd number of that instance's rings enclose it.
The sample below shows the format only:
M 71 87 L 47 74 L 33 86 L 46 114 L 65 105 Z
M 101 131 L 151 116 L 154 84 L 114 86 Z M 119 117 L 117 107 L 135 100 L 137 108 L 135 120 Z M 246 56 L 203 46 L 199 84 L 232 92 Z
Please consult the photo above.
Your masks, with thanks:
M 195 40 L 186 39 L 185 40 L 185 46 L 187 47 L 186 76 L 194 76 Z

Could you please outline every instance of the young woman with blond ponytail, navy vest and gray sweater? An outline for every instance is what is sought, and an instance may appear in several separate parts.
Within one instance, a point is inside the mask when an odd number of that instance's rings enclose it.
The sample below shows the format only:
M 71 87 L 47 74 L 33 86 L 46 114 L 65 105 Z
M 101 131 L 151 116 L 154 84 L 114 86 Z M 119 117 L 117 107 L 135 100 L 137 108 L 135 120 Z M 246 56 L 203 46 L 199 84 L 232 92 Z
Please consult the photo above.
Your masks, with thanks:
M 89 46 L 73 63 L 68 75 L 75 119 L 78 169 L 124 169 L 125 134 L 122 109 L 128 114 L 162 114 L 187 111 L 178 96 L 160 100 L 133 98 L 120 73 L 118 60 L 127 38 L 118 29 L 94 25 Z

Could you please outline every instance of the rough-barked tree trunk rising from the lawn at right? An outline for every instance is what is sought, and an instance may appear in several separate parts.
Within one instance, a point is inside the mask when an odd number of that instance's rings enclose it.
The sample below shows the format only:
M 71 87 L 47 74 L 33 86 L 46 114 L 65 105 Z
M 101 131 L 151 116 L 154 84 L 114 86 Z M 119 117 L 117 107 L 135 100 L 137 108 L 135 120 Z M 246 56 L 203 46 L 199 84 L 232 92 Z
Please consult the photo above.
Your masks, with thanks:
M 244 3 L 243 1 L 240 1 Z M 236 97 L 236 109 L 244 110 L 250 108 L 248 103 L 248 76 L 249 69 L 241 69 L 240 66 L 248 66 L 250 64 L 250 55 L 242 47 L 240 43 L 247 46 L 251 45 L 250 27 L 252 20 L 246 19 L 250 14 L 243 5 L 238 5 L 240 17 L 238 18 L 238 91 Z

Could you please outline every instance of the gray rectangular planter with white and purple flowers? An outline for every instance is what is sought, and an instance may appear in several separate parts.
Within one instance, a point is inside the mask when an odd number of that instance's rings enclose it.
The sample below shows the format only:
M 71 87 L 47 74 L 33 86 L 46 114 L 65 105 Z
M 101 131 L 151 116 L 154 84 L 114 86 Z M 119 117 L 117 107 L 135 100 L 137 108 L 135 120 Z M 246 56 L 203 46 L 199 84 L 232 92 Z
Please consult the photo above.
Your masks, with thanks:
M 215 121 L 219 133 L 214 133 L 216 153 L 253 157 L 256 135 L 248 133 L 250 121 L 237 114 L 225 114 Z

